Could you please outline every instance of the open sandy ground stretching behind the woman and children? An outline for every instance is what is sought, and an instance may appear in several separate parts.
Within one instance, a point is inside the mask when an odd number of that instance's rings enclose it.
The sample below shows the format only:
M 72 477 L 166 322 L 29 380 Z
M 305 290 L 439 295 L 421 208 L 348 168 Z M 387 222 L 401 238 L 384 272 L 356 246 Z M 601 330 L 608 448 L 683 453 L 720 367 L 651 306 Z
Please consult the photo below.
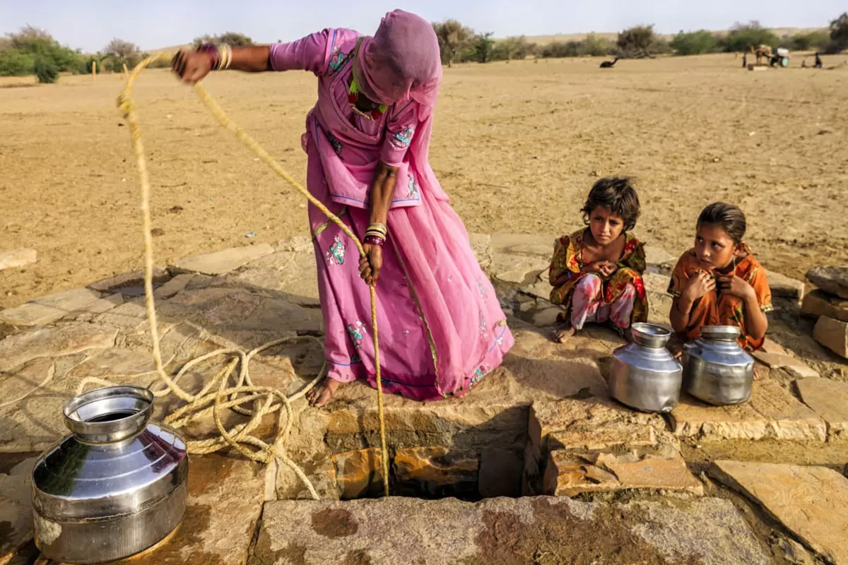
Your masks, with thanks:
M 629 174 L 644 210 L 637 232 L 669 252 L 691 245 L 700 208 L 722 199 L 748 214 L 767 268 L 802 277 L 848 263 L 848 66 L 749 72 L 734 55 L 598 62 L 445 69 L 432 165 L 469 230 L 571 230 L 597 175 Z M 104 75 L 0 87 L 0 252 L 38 252 L 37 263 L 0 272 L 0 307 L 142 265 L 137 172 L 114 103 L 122 84 Z M 304 180 L 313 77 L 225 73 L 207 86 Z M 304 233 L 302 197 L 191 88 L 150 70 L 137 101 L 158 264 Z

